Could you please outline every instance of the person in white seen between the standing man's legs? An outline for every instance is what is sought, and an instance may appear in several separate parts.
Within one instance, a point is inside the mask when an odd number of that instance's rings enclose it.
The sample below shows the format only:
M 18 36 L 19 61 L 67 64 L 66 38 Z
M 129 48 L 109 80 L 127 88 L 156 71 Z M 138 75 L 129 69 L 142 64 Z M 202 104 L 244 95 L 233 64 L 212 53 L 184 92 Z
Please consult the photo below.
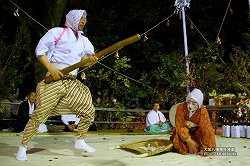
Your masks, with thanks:
M 71 132 L 77 128 L 80 119 L 76 117 L 76 115 L 69 114 L 69 115 L 61 115 L 61 120 L 65 125 L 64 132 Z

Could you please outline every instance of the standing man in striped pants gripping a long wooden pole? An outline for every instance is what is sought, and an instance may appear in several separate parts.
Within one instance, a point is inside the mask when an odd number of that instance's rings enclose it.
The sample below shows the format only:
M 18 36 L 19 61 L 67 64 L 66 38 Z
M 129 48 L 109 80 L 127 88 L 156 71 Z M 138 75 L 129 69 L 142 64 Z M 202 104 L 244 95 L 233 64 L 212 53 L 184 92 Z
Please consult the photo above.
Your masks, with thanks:
M 75 148 L 93 153 L 95 148 L 87 145 L 84 137 L 94 121 L 95 108 L 92 96 L 87 86 L 75 79 L 77 70 L 64 76 L 60 69 L 89 58 L 91 62 L 98 60 L 94 56 L 94 47 L 87 37 L 83 36 L 83 28 L 87 22 L 85 10 L 71 10 L 66 15 L 66 28 L 50 29 L 39 41 L 36 47 L 38 60 L 47 68 L 54 82 L 46 84 L 41 81 L 36 88 L 36 109 L 27 123 L 21 146 L 16 159 L 28 160 L 27 145 L 36 132 L 39 124 L 48 117 L 73 113 L 80 118 Z

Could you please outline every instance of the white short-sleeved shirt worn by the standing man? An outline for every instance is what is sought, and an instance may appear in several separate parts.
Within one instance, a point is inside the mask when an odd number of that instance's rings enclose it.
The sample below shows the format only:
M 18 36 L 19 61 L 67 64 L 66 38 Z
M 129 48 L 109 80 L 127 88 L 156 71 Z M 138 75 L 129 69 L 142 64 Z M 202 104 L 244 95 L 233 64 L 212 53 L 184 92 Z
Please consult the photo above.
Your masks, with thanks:
M 36 56 L 46 55 L 49 62 L 70 66 L 81 61 L 85 55 L 95 54 L 94 46 L 87 37 L 81 35 L 76 39 L 70 28 L 67 28 L 65 33 L 62 32 L 61 27 L 50 29 L 39 40 Z M 55 45 L 60 36 L 59 42 Z

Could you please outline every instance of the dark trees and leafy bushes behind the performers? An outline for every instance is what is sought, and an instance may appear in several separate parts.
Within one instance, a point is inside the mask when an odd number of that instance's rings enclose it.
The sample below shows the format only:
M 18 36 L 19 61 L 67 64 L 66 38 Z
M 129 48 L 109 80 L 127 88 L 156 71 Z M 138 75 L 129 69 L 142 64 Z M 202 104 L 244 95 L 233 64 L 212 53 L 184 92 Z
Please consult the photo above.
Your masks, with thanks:
M 94 101 L 101 96 L 105 107 L 112 106 L 115 98 L 125 107 L 150 108 L 158 101 L 163 108 L 169 109 L 183 101 L 189 81 L 190 87 L 202 89 L 205 97 L 213 89 L 218 93 L 246 92 L 250 95 L 247 1 L 232 0 L 219 34 L 220 45 L 215 39 L 228 1 L 191 1 L 190 9 L 186 10 L 189 78 L 185 70 L 179 15 L 174 14 L 154 27 L 174 12 L 174 1 L 14 1 L 43 26 L 20 10 L 20 16 L 15 17 L 13 12 L 17 8 L 9 1 L 0 2 L 3 18 L 0 22 L 3 36 L 0 39 L 1 95 L 10 93 L 7 89 L 13 82 L 15 87 L 22 87 L 22 82 L 36 84 L 43 79 L 46 71 L 36 60 L 36 44 L 46 29 L 62 26 L 65 14 L 73 8 L 87 10 L 84 33 L 96 52 L 149 30 L 146 33 L 148 40 L 133 43 L 119 50 L 119 57 L 111 55 L 102 61 L 113 70 L 96 64 L 84 71 L 86 79 L 82 81 L 90 87 Z M 11 63 L 5 68 L 8 57 Z

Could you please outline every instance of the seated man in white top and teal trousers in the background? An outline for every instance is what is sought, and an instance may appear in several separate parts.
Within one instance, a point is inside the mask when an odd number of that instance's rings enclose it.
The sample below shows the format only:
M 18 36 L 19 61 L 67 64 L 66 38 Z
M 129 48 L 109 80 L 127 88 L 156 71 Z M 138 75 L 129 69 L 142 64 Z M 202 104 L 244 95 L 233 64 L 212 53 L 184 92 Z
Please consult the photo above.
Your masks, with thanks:
M 166 118 L 161 111 L 159 111 L 160 105 L 154 103 L 154 108 L 147 114 L 146 125 L 144 129 L 146 132 L 166 132 L 170 130 L 170 125 L 166 122 Z

